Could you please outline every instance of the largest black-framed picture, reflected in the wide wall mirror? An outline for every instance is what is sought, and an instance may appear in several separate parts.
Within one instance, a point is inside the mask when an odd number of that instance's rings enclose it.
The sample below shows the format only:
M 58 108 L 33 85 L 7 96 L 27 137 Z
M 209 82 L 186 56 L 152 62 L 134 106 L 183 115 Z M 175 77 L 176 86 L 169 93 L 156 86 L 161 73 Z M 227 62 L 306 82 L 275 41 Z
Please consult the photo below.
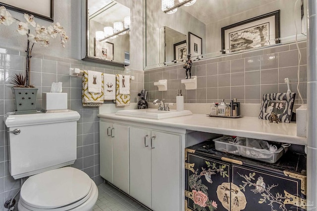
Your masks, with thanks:
M 221 28 L 222 53 L 279 43 L 279 19 L 280 10 L 276 10 Z

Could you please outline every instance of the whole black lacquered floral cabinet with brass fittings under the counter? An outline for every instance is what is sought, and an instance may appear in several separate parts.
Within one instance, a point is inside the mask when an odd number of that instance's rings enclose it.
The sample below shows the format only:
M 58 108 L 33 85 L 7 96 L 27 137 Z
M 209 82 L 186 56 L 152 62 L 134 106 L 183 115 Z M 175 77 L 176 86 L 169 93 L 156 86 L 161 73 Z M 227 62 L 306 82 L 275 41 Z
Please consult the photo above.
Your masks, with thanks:
M 306 202 L 306 156 L 268 164 L 217 152 L 212 141 L 185 152 L 185 210 L 299 211 Z

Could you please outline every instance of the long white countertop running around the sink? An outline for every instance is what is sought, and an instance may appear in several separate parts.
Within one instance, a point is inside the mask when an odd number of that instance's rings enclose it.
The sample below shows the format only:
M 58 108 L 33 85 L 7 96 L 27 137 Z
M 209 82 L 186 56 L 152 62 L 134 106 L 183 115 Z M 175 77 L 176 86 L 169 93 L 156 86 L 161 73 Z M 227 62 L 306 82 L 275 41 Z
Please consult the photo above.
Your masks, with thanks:
M 111 114 L 99 114 L 98 117 L 107 121 L 142 123 L 159 127 L 175 127 L 188 130 L 211 132 L 224 135 L 235 135 L 248 138 L 257 138 L 269 141 L 278 141 L 292 144 L 307 145 L 306 137 L 296 136 L 296 123 L 270 123 L 257 117 L 220 118 L 209 117 L 204 114 L 193 114 L 184 117 L 175 117 L 162 120 L 125 117 Z

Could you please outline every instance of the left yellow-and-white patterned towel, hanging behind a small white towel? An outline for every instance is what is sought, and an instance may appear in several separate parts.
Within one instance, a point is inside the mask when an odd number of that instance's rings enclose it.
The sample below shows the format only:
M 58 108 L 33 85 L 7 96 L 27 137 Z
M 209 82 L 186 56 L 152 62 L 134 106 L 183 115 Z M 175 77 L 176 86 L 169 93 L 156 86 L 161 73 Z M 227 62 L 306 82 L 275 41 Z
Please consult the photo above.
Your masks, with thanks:
M 83 106 L 101 106 L 104 103 L 104 74 L 102 74 L 101 93 L 92 93 L 88 91 L 88 71 L 84 70 L 83 75 Z

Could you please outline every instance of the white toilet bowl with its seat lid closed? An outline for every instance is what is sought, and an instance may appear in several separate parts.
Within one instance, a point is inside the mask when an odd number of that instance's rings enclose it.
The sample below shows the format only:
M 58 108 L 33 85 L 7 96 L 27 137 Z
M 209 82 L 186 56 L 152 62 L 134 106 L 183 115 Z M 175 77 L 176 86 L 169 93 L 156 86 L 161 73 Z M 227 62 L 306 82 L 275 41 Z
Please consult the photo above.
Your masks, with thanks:
M 98 198 L 95 182 L 71 167 L 29 177 L 22 185 L 19 211 L 91 211 Z

